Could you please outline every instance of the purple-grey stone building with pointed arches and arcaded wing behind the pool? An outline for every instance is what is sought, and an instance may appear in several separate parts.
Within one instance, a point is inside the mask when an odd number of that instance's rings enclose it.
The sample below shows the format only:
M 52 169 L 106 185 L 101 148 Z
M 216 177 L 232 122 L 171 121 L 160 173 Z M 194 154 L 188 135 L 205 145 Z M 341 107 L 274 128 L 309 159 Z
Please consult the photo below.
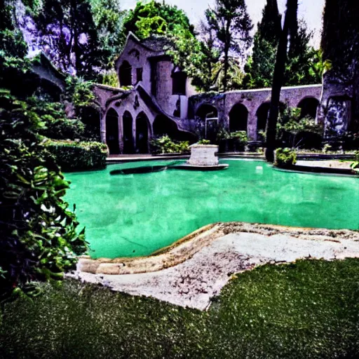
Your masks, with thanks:
M 168 41 L 143 41 L 130 33 L 115 62 L 120 88 L 96 85 L 101 138 L 111 154 L 148 153 L 152 137 L 167 134 L 195 142 L 207 127 L 245 130 L 260 140 L 266 126 L 271 89 L 196 93 L 182 69 L 166 55 Z M 322 86 L 283 88 L 280 101 L 316 117 Z

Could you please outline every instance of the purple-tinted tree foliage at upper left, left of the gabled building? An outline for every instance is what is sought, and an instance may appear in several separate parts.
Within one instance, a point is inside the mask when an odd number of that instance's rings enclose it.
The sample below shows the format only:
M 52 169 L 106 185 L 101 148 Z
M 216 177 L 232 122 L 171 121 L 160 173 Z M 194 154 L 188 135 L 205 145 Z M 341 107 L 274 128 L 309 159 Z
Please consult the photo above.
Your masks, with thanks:
M 116 0 L 44 0 L 26 22 L 32 46 L 56 67 L 98 81 L 123 46 L 123 17 Z

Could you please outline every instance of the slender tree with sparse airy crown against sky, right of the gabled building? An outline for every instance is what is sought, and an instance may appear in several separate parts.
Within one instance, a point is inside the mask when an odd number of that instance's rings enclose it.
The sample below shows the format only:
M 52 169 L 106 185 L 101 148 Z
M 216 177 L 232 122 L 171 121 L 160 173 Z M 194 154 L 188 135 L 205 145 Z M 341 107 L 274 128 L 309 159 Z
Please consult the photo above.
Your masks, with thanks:
M 218 48 L 223 55 L 223 88 L 227 90 L 230 54 L 241 57 L 252 42 L 252 22 L 244 0 L 216 0 L 214 8 L 205 11 L 208 26 L 217 38 Z

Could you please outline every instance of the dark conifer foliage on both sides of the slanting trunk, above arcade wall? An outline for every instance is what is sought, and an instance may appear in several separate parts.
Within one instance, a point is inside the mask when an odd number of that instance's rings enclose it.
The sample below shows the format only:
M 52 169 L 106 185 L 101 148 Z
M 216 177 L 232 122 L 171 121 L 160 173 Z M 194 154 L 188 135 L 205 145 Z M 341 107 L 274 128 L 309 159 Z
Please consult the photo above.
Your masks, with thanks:
M 271 87 L 281 32 L 280 20 L 277 1 L 267 0 L 262 21 L 259 22 L 255 34 L 252 55 L 245 65 L 243 88 Z M 320 50 L 309 46 L 311 36 L 306 24 L 303 21 L 298 22 L 295 16 L 290 27 L 283 86 L 321 82 L 326 64 Z

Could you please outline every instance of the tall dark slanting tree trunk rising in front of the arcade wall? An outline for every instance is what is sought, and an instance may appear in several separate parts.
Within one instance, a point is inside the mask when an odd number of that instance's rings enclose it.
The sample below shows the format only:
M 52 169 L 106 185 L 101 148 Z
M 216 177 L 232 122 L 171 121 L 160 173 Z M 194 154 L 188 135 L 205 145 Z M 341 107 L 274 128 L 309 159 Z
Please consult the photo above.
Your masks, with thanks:
M 282 33 L 278 43 L 276 66 L 274 67 L 273 85 L 271 95 L 271 107 L 266 123 L 266 161 L 274 161 L 274 150 L 276 149 L 276 127 L 279 114 L 280 90 L 282 88 L 285 62 L 287 61 L 288 32 L 294 11 L 297 11 L 298 0 L 287 0 L 287 11 Z

